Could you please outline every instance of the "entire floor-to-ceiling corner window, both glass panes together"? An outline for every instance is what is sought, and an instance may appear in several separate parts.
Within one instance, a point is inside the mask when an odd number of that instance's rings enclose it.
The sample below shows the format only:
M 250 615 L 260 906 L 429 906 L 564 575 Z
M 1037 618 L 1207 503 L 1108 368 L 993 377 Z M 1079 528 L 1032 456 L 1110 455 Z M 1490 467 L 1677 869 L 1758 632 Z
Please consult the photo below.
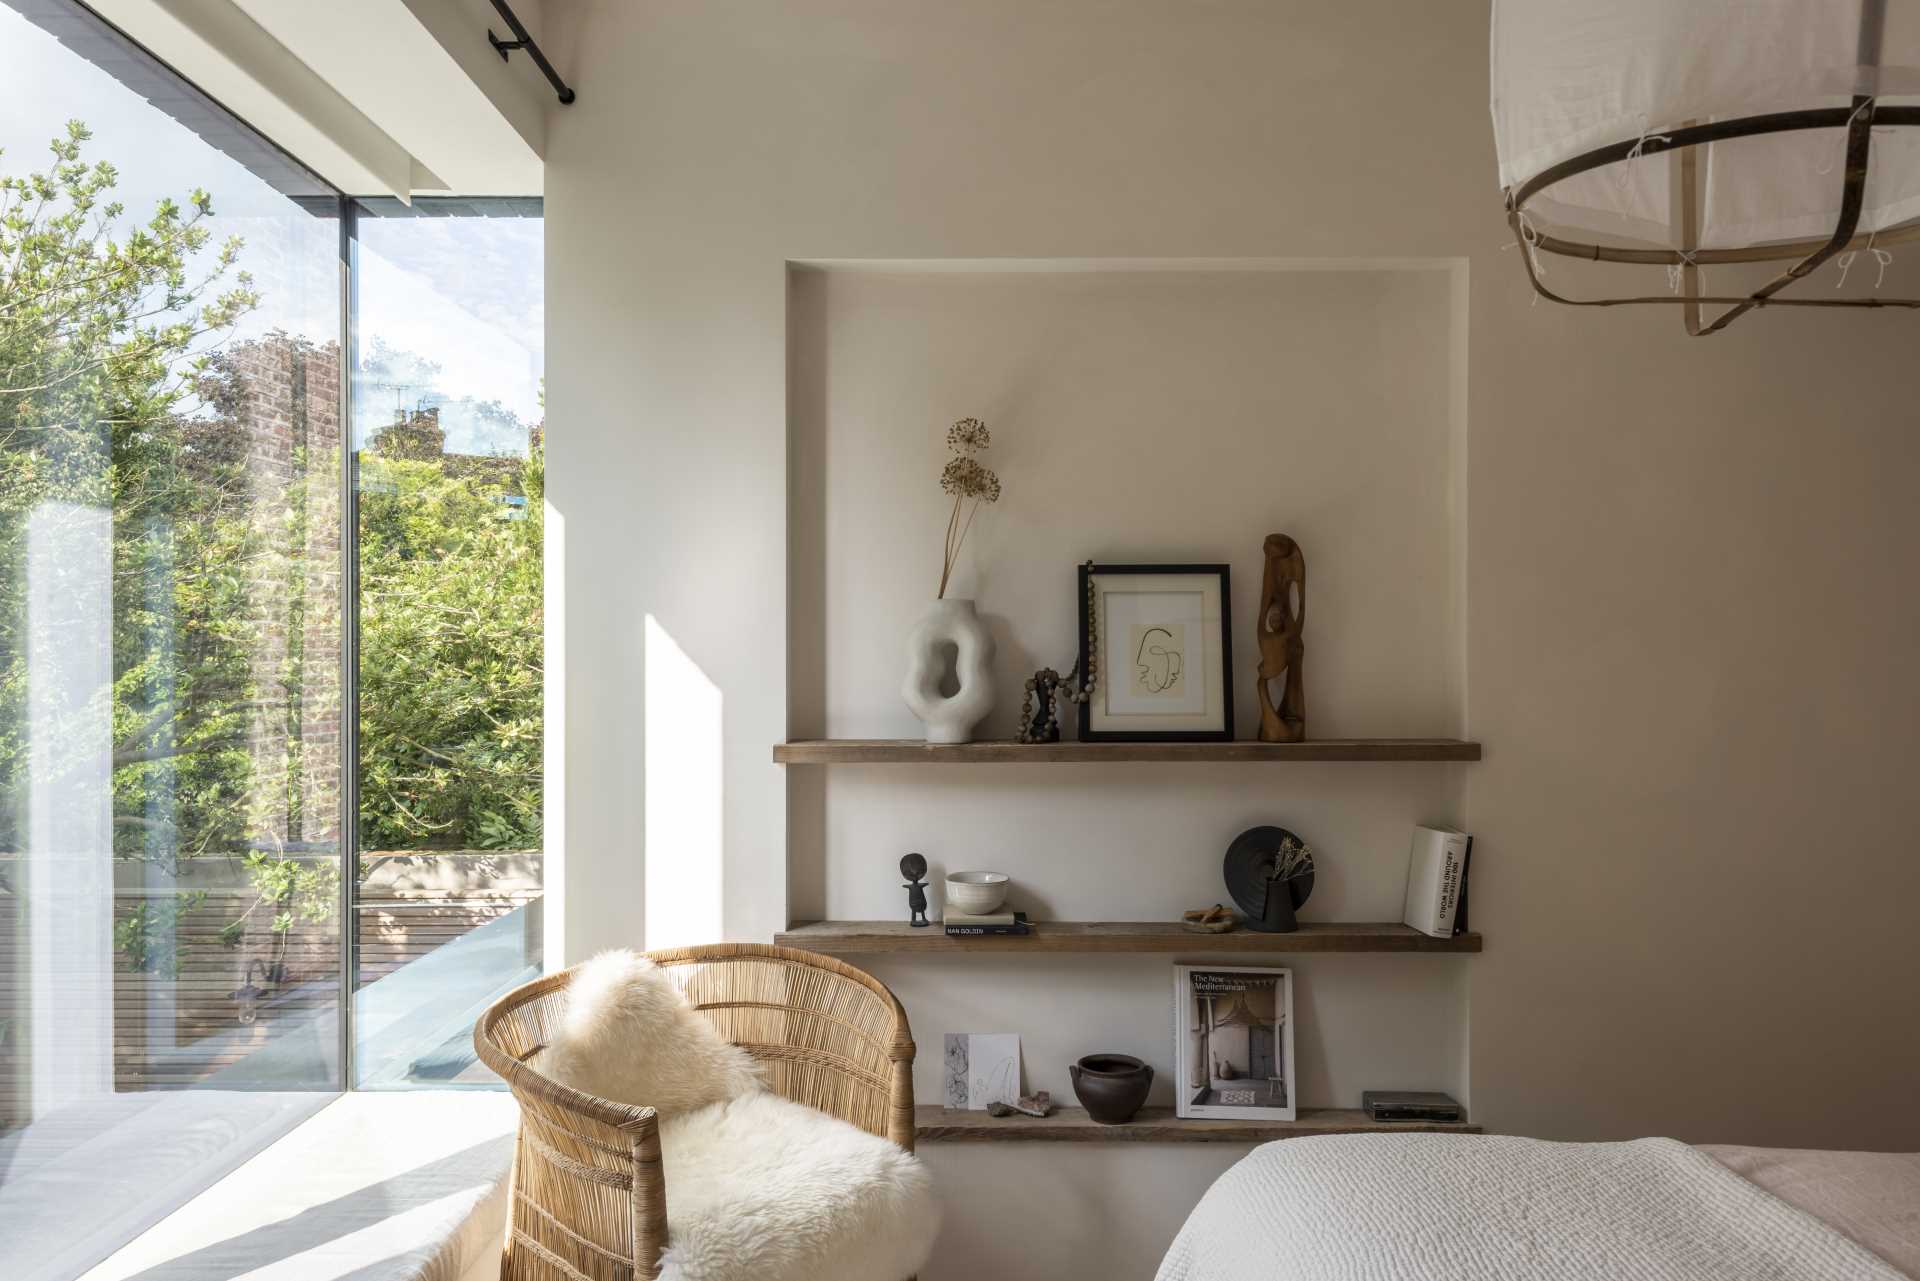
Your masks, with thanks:
M 0 1277 L 344 1087 L 492 1085 L 472 1018 L 540 964 L 540 255 L 538 200 L 349 202 L 0 0 Z

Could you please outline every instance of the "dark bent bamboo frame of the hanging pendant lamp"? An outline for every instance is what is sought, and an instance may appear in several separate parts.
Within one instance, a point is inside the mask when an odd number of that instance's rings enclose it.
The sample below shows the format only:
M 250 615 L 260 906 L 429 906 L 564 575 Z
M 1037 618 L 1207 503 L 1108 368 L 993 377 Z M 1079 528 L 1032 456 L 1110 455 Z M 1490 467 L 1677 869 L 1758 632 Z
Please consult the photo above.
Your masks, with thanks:
M 1885 0 L 1866 0 L 1860 15 L 1860 65 L 1880 63 L 1880 38 L 1885 27 Z M 1542 169 L 1524 182 L 1505 188 L 1507 225 L 1521 244 L 1521 261 L 1534 294 L 1548 302 L 1569 307 L 1620 307 L 1620 305 L 1678 305 L 1684 307 L 1686 332 L 1703 338 L 1716 334 L 1747 311 L 1761 307 L 1920 307 L 1920 298 L 1782 298 L 1782 290 L 1795 284 L 1828 259 L 1849 250 L 1903 244 L 1920 238 L 1920 219 L 1899 227 L 1860 234 L 1860 205 L 1866 196 L 1866 169 L 1872 157 L 1874 129 L 1914 129 L 1920 127 L 1920 108 L 1882 106 L 1872 94 L 1855 94 L 1845 108 L 1816 108 L 1807 111 L 1770 111 L 1764 115 L 1743 115 L 1738 119 L 1688 123 L 1678 129 L 1647 133 L 1640 138 L 1624 138 L 1592 152 L 1572 156 L 1557 165 Z M 1805 129 L 1845 129 L 1847 159 L 1839 186 L 1839 217 L 1834 232 L 1826 238 L 1782 240 L 1730 250 L 1701 250 L 1699 227 L 1703 211 L 1703 165 L 1695 148 L 1728 138 L 1757 138 L 1763 134 L 1799 133 Z M 1678 230 L 1678 250 L 1640 250 L 1615 248 L 1536 230 L 1526 219 L 1526 202 L 1574 175 L 1590 173 L 1603 165 L 1630 163 L 1640 157 L 1667 154 L 1672 165 L 1672 225 Z M 1674 294 L 1636 294 L 1628 298 L 1567 298 L 1549 290 L 1540 280 L 1534 254 L 1559 254 L 1596 263 L 1634 263 L 1651 267 L 1676 267 L 1680 288 Z M 1701 294 L 1699 269 L 1732 263 L 1791 263 L 1784 273 L 1753 290 L 1751 294 Z M 1713 321 L 1701 317 L 1701 303 L 1724 303 L 1726 309 Z

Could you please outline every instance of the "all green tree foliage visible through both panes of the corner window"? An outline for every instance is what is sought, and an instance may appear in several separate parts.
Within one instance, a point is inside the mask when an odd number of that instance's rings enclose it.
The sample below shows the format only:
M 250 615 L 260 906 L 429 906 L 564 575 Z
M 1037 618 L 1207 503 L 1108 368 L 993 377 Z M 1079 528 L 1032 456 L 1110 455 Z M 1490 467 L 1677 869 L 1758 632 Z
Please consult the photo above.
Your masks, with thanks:
M 27 611 L 29 526 L 109 513 L 111 707 L 60 711 L 109 716 L 115 857 L 230 858 L 253 901 L 221 937 L 284 939 L 336 905 L 336 866 L 300 851 L 301 818 L 332 828 L 301 814 L 323 803 L 301 780 L 324 762 L 300 728 L 336 711 L 311 705 L 336 655 L 305 655 L 303 611 L 332 574 L 313 522 L 338 511 L 338 455 L 296 446 L 292 482 L 263 495 L 238 355 L 273 348 L 338 376 L 338 351 L 282 334 L 223 351 L 259 303 L 240 240 L 211 242 L 198 190 L 129 225 L 113 167 L 83 159 L 88 138 L 73 123 L 44 173 L 0 169 L 0 855 L 27 841 L 29 628 L 46 626 Z M 526 461 L 442 446 L 430 413 L 401 415 L 363 459 L 361 839 L 536 849 L 543 451 L 538 432 Z M 35 730 L 98 768 L 98 736 Z M 175 926 L 204 903 L 123 916 L 129 968 L 171 974 Z

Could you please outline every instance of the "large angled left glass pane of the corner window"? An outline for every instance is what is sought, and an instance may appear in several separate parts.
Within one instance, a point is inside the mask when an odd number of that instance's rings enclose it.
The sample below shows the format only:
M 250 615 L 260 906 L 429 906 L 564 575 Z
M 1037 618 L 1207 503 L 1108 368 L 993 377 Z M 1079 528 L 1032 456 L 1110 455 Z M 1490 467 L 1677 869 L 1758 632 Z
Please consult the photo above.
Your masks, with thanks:
M 0 1275 L 63 1277 L 342 1085 L 340 205 L 8 6 Z

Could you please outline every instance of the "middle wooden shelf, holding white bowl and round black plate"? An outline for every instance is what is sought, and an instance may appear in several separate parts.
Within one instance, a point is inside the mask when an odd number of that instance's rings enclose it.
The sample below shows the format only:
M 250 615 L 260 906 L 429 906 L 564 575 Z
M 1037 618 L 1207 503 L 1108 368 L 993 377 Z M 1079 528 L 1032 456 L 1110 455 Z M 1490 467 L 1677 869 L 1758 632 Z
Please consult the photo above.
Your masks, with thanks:
M 1194 933 L 1160 920 L 1039 920 L 1029 935 L 948 937 L 935 922 L 804 920 L 776 933 L 808 953 L 1476 953 L 1478 933 L 1436 939 L 1394 922 L 1300 922 L 1294 933 Z

